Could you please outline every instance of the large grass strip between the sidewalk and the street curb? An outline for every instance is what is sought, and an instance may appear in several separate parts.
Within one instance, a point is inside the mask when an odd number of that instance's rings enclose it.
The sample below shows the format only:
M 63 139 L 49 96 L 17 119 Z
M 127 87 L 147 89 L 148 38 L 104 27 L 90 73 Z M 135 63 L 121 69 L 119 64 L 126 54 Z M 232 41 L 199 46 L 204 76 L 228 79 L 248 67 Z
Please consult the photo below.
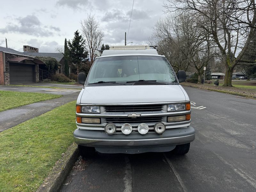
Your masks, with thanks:
M 73 142 L 76 101 L 0 132 L 0 191 L 36 191 Z

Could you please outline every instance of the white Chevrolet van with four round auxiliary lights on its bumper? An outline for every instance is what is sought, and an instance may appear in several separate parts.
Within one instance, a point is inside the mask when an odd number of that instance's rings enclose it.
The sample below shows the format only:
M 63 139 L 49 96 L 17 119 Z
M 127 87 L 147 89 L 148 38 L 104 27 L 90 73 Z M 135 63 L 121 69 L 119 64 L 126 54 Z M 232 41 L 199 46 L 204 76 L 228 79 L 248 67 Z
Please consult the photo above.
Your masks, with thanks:
M 76 102 L 74 139 L 82 156 L 100 153 L 188 153 L 195 130 L 190 101 L 171 64 L 156 49 L 113 46 L 94 61 Z

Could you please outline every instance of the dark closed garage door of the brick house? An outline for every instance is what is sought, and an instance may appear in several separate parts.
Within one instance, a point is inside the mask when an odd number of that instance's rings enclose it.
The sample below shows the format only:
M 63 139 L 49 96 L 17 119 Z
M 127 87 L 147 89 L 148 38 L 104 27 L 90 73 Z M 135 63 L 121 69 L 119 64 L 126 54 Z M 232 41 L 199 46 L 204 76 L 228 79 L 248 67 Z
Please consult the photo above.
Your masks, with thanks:
M 36 78 L 35 65 L 10 63 L 10 84 L 34 83 Z

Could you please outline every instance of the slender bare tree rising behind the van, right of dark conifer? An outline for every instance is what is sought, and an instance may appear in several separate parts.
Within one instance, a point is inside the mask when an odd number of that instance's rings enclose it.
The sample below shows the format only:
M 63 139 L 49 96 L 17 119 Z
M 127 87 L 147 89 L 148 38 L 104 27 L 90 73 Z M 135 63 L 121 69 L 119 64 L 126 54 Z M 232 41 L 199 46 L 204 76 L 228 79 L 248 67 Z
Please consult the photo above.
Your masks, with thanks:
M 81 20 L 80 24 L 85 39 L 85 47 L 90 52 L 90 59 L 93 62 L 94 51 L 100 49 L 104 33 L 100 29 L 100 24 L 95 20 L 94 15 L 88 14 L 87 19 Z

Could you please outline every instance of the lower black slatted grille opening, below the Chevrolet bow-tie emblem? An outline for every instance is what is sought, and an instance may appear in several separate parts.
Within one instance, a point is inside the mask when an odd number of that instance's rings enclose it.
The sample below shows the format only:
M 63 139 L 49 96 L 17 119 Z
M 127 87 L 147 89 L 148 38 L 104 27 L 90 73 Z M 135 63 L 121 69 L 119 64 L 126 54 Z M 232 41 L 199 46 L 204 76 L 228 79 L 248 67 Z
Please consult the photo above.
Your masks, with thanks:
M 130 118 L 130 117 L 107 117 L 105 118 L 106 123 L 152 123 L 152 122 L 160 122 L 163 121 L 163 117 L 138 117 L 138 118 Z

